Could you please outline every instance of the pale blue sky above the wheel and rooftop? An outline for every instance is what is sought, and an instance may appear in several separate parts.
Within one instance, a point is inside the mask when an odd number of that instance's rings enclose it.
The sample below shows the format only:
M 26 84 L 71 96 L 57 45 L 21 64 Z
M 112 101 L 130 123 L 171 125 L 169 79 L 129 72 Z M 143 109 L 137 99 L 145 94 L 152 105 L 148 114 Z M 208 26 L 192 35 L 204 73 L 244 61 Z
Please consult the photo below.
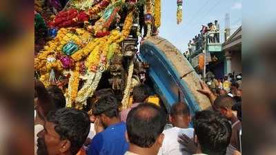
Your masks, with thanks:
M 225 28 L 226 13 L 230 16 L 231 32 L 242 25 L 242 0 L 183 0 L 182 22 L 177 25 L 177 0 L 161 0 L 159 36 L 167 39 L 182 53 L 188 41 L 199 34 L 201 25 L 219 21 Z

